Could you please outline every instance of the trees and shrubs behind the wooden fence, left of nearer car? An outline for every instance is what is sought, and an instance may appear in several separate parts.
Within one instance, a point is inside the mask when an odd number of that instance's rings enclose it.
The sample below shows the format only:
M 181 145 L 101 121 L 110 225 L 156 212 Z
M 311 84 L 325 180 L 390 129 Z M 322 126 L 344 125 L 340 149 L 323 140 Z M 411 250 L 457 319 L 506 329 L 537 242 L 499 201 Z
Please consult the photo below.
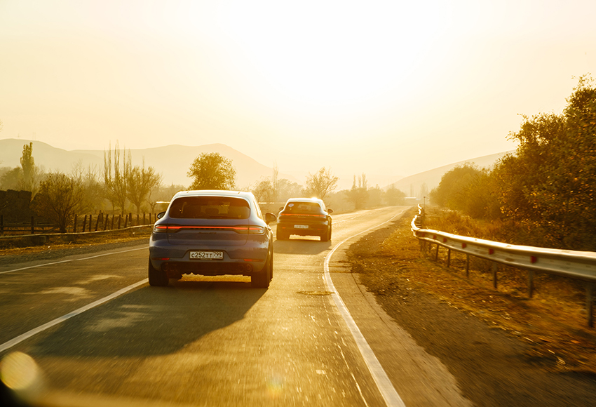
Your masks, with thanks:
M 21 166 L 0 168 L 0 189 L 17 189 L 32 192 L 32 210 L 52 222 L 61 233 L 67 232 L 76 214 L 153 212 L 156 202 L 172 189 L 161 183 L 161 174 L 155 168 L 133 165 L 130 150 L 120 149 L 118 143 L 104 152 L 104 168 L 84 168 L 75 164 L 70 173 L 50 171 L 35 164 L 33 143 L 23 146 Z M 175 193 L 173 192 L 173 193 Z

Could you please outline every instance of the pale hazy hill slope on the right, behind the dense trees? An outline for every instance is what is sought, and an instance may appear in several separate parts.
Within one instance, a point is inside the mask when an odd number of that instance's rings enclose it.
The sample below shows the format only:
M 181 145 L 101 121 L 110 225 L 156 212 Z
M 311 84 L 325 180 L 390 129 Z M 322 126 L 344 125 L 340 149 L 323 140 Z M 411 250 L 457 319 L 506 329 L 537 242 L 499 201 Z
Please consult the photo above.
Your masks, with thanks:
M 428 187 L 428 192 L 431 192 L 433 188 L 438 187 L 439 183 L 441 182 L 442 176 L 445 173 L 447 173 L 447 171 L 451 170 L 452 168 L 455 168 L 456 166 L 461 166 L 463 164 L 473 164 L 475 166 L 478 166 L 479 168 L 490 168 L 501 157 L 513 152 L 514 151 L 512 150 L 508 152 L 490 154 L 488 156 L 482 156 L 476 159 L 459 161 L 454 164 L 449 164 L 447 166 L 442 166 L 433 170 L 424 171 L 424 173 L 409 175 L 409 177 L 402 178 L 399 181 L 393 182 L 393 184 L 387 185 L 387 187 L 385 187 L 384 189 L 387 189 L 388 187 L 391 187 L 391 185 L 393 185 L 395 188 L 402 190 L 402 192 L 405 192 L 407 196 L 419 196 L 420 187 L 422 186 L 422 184 L 426 183 L 426 187 Z

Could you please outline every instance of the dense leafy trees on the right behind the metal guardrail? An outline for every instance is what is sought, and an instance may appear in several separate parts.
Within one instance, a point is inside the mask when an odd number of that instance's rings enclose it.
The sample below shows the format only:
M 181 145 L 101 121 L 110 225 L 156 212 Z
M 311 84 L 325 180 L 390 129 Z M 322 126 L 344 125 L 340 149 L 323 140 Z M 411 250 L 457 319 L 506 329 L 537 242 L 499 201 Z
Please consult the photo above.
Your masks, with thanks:
M 582 76 L 561 114 L 523 116 L 519 143 L 493 168 L 460 166 L 430 194 L 434 204 L 496 220 L 511 243 L 596 250 L 596 88 Z

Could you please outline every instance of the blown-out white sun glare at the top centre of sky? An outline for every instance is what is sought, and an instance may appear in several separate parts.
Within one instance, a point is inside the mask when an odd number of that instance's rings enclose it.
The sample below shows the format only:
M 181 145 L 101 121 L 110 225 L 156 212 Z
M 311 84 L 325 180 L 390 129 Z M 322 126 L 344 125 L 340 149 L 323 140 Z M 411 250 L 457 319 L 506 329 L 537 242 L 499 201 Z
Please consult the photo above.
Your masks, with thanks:
M 332 109 L 370 103 L 433 69 L 449 19 L 399 2 L 239 2 L 222 27 L 277 102 Z

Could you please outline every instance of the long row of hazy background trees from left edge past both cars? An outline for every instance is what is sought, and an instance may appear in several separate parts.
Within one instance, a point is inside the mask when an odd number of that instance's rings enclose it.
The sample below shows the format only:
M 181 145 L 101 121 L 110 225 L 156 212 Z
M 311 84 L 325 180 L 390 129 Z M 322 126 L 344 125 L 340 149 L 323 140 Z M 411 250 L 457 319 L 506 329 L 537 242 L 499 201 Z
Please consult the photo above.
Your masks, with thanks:
M 104 151 L 103 168 L 75 164 L 70 173 L 46 173 L 34 160 L 33 144 L 23 145 L 20 166 L 0 168 L 0 189 L 32 192 L 32 210 L 52 222 L 60 232 L 67 232 L 76 214 L 85 213 L 154 213 L 158 202 L 168 202 L 184 189 L 235 189 L 236 168 L 219 153 L 200 154 L 189 167 L 189 187 L 163 185 L 161 174 L 152 166 L 133 165 L 130 150 L 116 142 Z M 331 168 L 322 167 L 309 173 L 303 185 L 280 178 L 274 164 L 270 177 L 257 180 L 245 188 L 259 202 L 278 204 L 294 197 L 317 197 L 336 211 L 348 211 L 381 205 L 403 204 L 405 194 L 395 187 L 382 190 L 369 187 L 366 174 L 354 175 L 351 189 L 336 192 L 339 178 Z M 276 208 L 271 208 L 275 211 Z

